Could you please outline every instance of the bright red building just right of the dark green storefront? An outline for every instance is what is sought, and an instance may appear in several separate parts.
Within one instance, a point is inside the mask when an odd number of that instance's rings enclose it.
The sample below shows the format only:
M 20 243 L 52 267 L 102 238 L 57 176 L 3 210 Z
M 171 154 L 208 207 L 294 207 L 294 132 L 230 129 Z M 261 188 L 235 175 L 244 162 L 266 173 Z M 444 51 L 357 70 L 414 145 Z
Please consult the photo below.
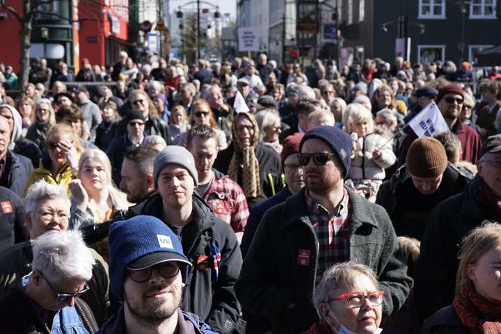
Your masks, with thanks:
M 128 0 L 82 0 L 79 2 L 80 58 L 95 65 L 113 64 L 120 51 L 129 51 Z

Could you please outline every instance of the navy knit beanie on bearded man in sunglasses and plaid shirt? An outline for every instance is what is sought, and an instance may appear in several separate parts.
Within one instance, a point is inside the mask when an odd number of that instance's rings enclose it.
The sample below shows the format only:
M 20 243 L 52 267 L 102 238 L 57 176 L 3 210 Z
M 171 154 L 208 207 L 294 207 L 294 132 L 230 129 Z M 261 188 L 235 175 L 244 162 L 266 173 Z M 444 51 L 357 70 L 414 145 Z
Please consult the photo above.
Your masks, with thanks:
M 344 166 L 344 177 L 346 177 L 351 164 L 351 146 L 353 144 L 351 136 L 337 129 L 337 127 L 331 127 L 329 125 L 314 127 L 306 132 L 303 139 L 301 139 L 299 152 L 301 152 L 304 142 L 308 141 L 310 138 L 319 138 L 332 148 L 333 152 L 337 154 L 341 164 Z

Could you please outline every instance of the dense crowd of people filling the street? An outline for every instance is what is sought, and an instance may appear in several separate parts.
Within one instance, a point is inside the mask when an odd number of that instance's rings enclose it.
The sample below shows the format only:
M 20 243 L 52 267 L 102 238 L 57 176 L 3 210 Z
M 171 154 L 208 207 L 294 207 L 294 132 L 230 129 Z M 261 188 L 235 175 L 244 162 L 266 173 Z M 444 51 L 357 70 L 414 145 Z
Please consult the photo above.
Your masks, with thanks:
M 497 67 L 119 58 L 0 63 L 2 333 L 501 333 Z

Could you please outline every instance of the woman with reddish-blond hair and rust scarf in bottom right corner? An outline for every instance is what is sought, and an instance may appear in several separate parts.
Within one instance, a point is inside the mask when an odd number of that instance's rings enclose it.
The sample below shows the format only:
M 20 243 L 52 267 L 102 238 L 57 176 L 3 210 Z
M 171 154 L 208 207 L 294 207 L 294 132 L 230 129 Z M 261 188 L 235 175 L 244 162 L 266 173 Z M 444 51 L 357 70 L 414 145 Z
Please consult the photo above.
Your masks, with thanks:
M 475 228 L 459 259 L 454 301 L 424 321 L 422 333 L 501 333 L 501 225 Z

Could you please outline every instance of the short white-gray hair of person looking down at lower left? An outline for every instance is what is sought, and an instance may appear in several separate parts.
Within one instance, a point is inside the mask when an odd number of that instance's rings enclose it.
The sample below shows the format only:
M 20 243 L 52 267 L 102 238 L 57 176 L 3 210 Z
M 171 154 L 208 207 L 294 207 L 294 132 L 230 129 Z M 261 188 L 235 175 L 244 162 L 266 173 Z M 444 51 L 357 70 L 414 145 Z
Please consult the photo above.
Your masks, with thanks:
M 47 232 L 31 241 L 33 270 L 42 271 L 47 280 L 58 282 L 68 278 L 90 280 L 94 256 L 75 230 Z

